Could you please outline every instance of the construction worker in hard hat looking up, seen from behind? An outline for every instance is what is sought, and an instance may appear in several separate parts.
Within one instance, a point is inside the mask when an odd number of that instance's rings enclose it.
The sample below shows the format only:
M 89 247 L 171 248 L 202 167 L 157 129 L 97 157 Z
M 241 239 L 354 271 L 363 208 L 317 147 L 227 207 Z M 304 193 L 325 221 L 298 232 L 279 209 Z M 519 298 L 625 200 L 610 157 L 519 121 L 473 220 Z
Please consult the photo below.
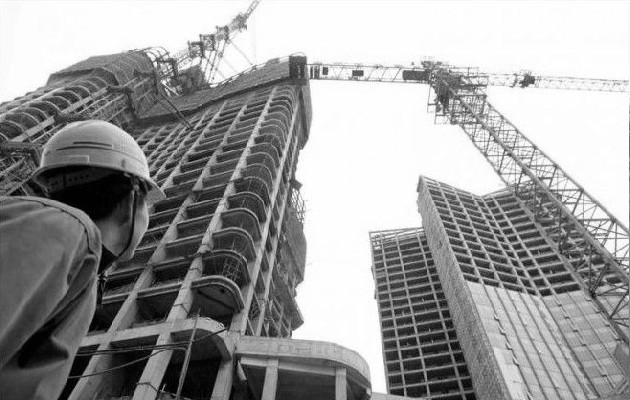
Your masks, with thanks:
M 59 397 L 97 303 L 164 198 L 140 146 L 104 121 L 67 125 L 35 172 L 50 198 L 0 197 L 0 398 Z

